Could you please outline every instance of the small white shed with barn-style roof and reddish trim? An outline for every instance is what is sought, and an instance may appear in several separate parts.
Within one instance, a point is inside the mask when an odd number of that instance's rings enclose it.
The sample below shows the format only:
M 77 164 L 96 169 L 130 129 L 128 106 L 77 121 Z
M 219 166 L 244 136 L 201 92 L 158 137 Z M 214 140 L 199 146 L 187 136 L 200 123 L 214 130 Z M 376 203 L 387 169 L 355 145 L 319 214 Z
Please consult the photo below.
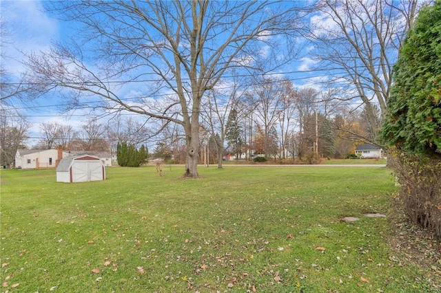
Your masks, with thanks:
M 87 182 L 105 180 L 105 166 L 94 155 L 74 155 L 63 158 L 57 167 L 57 182 Z

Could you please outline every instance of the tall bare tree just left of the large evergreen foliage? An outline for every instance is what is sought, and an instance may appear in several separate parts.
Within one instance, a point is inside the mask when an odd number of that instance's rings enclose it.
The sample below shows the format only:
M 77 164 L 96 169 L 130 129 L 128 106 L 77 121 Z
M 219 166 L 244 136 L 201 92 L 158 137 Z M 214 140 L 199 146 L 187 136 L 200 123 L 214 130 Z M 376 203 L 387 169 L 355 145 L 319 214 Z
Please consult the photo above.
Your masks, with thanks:
M 318 68 L 327 70 L 349 99 L 360 99 L 371 129 L 378 105 L 387 112 L 391 69 L 418 12 L 418 1 L 325 0 L 312 17 L 311 40 Z

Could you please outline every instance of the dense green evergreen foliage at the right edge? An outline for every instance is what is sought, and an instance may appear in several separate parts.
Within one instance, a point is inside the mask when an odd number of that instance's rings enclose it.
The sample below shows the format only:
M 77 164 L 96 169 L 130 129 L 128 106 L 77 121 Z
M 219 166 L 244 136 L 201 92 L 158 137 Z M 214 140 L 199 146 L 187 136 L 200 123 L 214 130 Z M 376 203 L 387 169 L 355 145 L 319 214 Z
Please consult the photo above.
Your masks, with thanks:
M 409 153 L 441 156 L 441 1 L 422 10 L 393 67 L 382 138 Z

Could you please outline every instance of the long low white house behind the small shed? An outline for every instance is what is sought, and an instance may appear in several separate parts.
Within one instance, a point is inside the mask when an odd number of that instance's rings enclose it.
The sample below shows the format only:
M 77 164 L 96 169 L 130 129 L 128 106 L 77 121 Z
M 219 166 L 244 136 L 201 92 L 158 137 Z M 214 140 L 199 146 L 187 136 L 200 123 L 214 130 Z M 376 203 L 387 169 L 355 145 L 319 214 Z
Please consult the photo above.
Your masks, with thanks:
M 19 169 L 57 168 L 63 158 L 73 155 L 83 155 L 85 151 L 63 151 L 59 149 L 18 149 L 15 154 L 15 167 Z M 112 166 L 112 155 L 106 152 L 88 151 L 103 161 L 105 166 Z

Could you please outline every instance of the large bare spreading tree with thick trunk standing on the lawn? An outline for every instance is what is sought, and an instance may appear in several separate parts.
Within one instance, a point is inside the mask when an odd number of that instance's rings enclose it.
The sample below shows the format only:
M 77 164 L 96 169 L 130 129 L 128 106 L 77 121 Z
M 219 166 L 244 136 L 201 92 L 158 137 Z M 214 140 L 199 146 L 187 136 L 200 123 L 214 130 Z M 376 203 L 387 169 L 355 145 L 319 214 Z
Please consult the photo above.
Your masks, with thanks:
M 26 61 L 32 72 L 30 83 L 46 85 L 43 91 L 72 89 L 76 102 L 79 94 L 88 94 L 101 99 L 95 107 L 180 124 L 189 177 L 198 176 L 205 91 L 213 89 L 231 67 L 253 67 L 263 59 L 271 61 L 272 69 L 285 64 L 295 52 L 293 36 L 304 16 L 296 3 L 275 1 L 45 3 L 62 19 L 83 24 L 76 39 L 84 36 L 84 40 L 30 55 Z M 289 48 L 286 52 L 280 52 L 285 47 L 282 42 Z M 136 82 L 147 83 L 144 89 L 151 91 L 131 100 L 119 94 L 120 87 Z M 147 98 L 165 89 L 172 92 L 167 98 Z

